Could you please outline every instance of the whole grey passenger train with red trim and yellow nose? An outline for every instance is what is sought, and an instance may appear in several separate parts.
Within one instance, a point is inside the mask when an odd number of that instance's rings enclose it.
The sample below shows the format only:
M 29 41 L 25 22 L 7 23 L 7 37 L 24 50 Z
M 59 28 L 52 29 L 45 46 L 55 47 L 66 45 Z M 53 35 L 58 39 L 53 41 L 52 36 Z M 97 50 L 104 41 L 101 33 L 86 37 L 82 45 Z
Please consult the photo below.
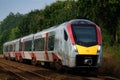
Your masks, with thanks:
M 33 65 L 98 69 L 103 62 L 100 27 L 87 19 L 73 19 L 3 44 L 5 59 L 30 60 Z

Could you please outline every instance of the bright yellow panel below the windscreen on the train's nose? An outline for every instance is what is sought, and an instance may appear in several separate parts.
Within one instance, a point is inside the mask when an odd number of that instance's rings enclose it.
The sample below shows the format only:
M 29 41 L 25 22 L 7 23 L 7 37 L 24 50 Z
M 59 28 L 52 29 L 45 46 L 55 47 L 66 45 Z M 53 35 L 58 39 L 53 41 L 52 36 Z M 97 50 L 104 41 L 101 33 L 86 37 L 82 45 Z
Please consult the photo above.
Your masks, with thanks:
M 98 45 L 84 47 L 80 45 L 76 45 L 78 53 L 81 55 L 97 55 Z

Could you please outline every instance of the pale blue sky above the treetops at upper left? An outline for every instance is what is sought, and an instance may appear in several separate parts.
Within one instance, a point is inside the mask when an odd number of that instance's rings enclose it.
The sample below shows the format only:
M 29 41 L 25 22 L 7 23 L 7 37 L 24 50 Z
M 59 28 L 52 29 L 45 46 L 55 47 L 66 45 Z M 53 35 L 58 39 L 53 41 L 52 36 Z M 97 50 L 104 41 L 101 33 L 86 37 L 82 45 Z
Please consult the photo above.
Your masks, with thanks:
M 26 14 L 31 10 L 44 9 L 53 2 L 56 0 L 0 0 L 0 21 L 3 21 L 10 12 Z

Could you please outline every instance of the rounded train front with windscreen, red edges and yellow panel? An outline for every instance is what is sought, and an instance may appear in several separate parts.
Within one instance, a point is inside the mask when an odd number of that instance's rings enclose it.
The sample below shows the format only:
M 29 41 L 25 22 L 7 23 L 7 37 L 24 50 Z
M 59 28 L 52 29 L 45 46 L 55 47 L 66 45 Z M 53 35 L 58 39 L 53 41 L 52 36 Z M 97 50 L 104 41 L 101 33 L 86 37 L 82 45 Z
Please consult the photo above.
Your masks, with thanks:
M 67 25 L 75 55 L 75 67 L 99 68 L 102 63 L 100 28 L 89 20 L 73 20 Z M 72 64 L 72 62 L 71 62 Z

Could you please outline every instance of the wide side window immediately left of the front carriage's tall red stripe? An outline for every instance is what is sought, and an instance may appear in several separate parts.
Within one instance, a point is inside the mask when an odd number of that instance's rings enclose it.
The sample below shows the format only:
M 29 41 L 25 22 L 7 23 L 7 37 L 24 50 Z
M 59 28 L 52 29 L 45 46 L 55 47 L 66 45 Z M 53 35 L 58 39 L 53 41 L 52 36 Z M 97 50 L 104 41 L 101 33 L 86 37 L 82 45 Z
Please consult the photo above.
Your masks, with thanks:
M 34 40 L 34 50 L 35 51 L 44 51 L 44 38 L 39 38 Z

